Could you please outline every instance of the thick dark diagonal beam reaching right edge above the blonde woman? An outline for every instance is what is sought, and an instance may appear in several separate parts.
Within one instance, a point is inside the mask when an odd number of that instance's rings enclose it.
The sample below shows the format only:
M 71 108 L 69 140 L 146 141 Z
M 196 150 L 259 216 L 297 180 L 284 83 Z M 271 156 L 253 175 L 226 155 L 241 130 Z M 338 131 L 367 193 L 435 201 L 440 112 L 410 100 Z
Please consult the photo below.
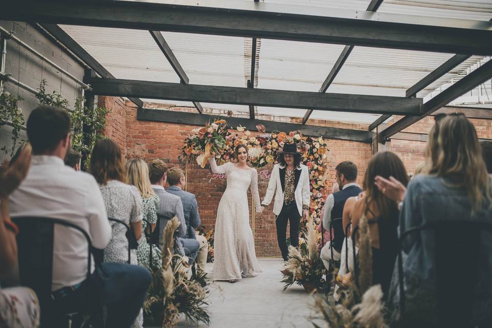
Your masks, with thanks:
M 389 139 L 391 136 L 402 131 L 403 129 L 411 126 L 415 122 L 432 114 L 441 107 L 449 104 L 450 101 L 458 98 L 459 96 L 465 94 L 466 92 L 474 89 L 478 85 L 484 83 L 486 80 L 492 77 L 492 60 L 477 68 L 475 71 L 464 76 L 454 85 L 450 86 L 440 94 L 436 95 L 434 98 L 427 101 L 427 103 L 422 105 L 420 116 L 405 116 L 399 121 L 395 122 L 393 125 L 387 127 L 380 133 L 380 139 L 382 141 Z

